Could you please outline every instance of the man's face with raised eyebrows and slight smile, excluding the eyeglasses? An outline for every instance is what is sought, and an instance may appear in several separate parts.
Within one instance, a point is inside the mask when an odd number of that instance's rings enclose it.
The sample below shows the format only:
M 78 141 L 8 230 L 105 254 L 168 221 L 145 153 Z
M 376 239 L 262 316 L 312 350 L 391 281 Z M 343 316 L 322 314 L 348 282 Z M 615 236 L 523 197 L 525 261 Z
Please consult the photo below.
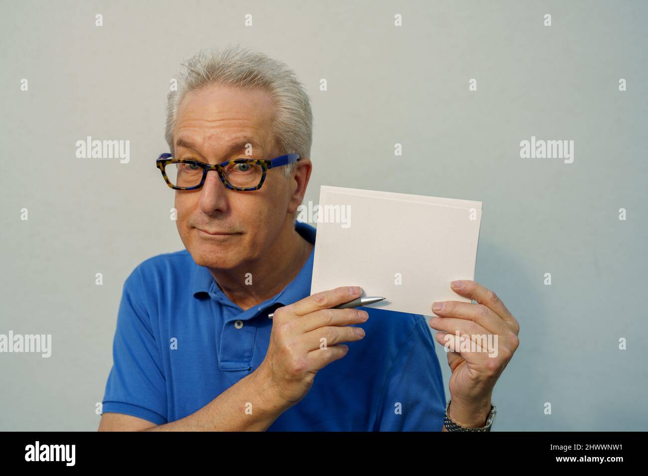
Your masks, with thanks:
M 178 108 L 175 157 L 209 164 L 273 159 L 281 154 L 270 130 L 272 113 L 272 98 L 260 89 L 214 86 L 189 93 Z M 246 155 L 249 143 L 258 145 Z M 241 147 L 231 151 L 234 144 Z M 180 238 L 200 266 L 231 269 L 256 260 L 279 234 L 289 207 L 296 208 L 295 187 L 281 168 L 268 170 L 262 187 L 249 192 L 229 190 L 218 172 L 208 172 L 202 188 L 176 190 Z

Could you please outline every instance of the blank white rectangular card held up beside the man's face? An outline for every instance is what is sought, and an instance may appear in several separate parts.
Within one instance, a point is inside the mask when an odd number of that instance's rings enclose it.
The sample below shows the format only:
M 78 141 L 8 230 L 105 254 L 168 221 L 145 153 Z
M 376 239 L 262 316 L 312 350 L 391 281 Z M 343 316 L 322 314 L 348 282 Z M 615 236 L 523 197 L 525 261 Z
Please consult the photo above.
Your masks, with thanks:
M 433 315 L 432 302 L 470 299 L 450 281 L 474 279 L 481 202 L 323 185 L 310 293 L 361 286 L 368 307 Z

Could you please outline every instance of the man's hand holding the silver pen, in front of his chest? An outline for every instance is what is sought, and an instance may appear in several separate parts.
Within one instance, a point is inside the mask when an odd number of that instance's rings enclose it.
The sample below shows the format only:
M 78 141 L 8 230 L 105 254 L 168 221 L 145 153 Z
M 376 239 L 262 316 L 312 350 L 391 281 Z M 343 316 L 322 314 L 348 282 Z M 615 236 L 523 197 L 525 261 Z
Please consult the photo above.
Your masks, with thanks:
M 361 294 L 362 289 L 358 286 L 343 286 L 316 293 L 275 311 L 268 352 L 257 372 L 267 379 L 286 407 L 304 398 L 319 369 L 347 355 L 349 347 L 343 342 L 359 341 L 364 337 L 364 330 L 349 327 L 349 324 L 367 321 L 366 311 L 330 309 L 357 299 Z

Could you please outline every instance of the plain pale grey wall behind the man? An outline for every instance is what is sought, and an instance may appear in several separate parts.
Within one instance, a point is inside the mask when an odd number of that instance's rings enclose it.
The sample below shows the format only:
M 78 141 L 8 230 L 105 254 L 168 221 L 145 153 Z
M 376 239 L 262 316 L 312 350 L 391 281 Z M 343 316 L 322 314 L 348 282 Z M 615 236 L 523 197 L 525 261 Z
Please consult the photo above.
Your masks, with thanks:
M 124 279 L 182 248 L 154 166 L 169 80 L 226 43 L 306 85 L 306 202 L 319 185 L 483 201 L 476 280 L 522 327 L 496 429 L 648 429 L 647 14 L 643 1 L 3 2 L 0 333 L 52 334 L 52 356 L 0 354 L 0 430 L 97 428 Z M 129 140 L 130 163 L 77 159 L 87 135 Z M 573 140 L 573 163 L 521 159 L 532 135 Z

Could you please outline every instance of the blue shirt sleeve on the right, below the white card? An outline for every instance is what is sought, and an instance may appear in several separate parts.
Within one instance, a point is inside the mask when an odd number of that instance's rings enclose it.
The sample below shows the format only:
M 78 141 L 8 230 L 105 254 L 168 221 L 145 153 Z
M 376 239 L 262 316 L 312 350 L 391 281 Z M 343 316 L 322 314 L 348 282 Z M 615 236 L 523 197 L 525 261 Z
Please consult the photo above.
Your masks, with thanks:
M 432 334 L 416 317 L 382 389 L 374 431 L 441 431 L 445 391 Z

